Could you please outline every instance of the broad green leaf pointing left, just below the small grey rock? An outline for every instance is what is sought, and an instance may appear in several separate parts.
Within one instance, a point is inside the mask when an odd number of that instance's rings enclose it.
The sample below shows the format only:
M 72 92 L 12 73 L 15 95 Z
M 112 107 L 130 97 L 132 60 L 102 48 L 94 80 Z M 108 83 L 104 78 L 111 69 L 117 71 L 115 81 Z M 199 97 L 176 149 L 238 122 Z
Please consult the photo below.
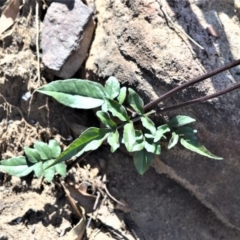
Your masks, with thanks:
M 101 84 L 81 79 L 54 81 L 37 91 L 55 98 L 65 106 L 79 109 L 99 107 L 105 98 L 105 90 Z

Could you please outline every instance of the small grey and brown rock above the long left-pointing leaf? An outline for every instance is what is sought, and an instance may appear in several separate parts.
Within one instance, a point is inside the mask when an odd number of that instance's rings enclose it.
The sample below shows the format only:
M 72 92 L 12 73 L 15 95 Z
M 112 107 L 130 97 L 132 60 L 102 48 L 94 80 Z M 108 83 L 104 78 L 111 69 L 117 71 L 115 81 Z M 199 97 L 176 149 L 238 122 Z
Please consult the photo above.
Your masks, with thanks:
M 70 78 L 87 56 L 94 31 L 92 10 L 79 0 L 53 2 L 42 31 L 42 60 L 61 78 Z

